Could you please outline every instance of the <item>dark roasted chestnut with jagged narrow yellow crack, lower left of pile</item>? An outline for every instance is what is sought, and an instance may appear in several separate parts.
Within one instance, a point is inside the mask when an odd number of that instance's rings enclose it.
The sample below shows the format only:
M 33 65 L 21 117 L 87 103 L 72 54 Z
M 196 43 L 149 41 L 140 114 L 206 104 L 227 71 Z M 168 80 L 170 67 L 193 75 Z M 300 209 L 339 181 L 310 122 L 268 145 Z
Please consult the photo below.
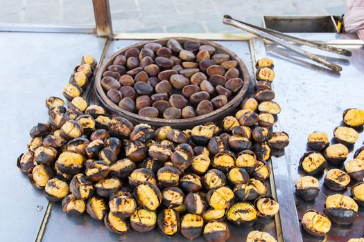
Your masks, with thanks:
M 69 183 L 69 190 L 76 199 L 88 199 L 94 194 L 92 182 L 84 174 L 76 174 Z

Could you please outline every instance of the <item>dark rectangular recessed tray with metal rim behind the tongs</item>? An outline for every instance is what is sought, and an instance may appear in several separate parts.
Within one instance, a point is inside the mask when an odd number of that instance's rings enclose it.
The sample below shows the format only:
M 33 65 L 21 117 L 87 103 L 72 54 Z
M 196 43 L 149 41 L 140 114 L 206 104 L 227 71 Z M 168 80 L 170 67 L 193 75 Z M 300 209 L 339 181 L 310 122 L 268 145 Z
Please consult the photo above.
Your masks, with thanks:
M 332 15 L 263 16 L 263 26 L 280 32 L 338 32 Z

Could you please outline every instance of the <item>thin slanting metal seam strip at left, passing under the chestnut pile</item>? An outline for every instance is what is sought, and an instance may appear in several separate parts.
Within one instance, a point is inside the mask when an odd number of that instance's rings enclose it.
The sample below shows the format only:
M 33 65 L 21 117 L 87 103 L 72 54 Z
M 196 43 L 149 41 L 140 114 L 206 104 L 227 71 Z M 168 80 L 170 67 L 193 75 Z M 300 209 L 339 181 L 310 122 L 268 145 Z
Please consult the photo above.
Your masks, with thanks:
M 103 52 L 101 53 L 101 57 L 98 60 L 98 64 L 96 69 L 94 70 L 96 72 L 98 66 L 100 66 L 101 62 L 103 61 L 103 59 L 105 58 L 105 54 L 107 52 L 107 49 L 110 46 L 110 39 L 106 39 L 105 41 L 105 45 L 103 46 Z M 87 91 L 85 91 L 85 93 L 83 93 L 83 97 L 88 100 L 89 98 L 89 93 L 92 91 L 92 89 L 94 88 L 94 77 L 92 78 L 92 82 L 89 84 L 89 86 L 87 87 Z M 37 237 L 35 239 L 35 242 L 40 242 L 43 239 L 44 233 L 46 232 L 46 225 L 49 221 L 49 217 L 51 216 L 51 210 L 53 208 L 54 203 L 49 202 L 47 207 L 46 207 L 46 212 L 44 213 L 44 217 L 42 220 L 42 223 L 40 224 L 40 229 L 38 230 L 37 233 Z

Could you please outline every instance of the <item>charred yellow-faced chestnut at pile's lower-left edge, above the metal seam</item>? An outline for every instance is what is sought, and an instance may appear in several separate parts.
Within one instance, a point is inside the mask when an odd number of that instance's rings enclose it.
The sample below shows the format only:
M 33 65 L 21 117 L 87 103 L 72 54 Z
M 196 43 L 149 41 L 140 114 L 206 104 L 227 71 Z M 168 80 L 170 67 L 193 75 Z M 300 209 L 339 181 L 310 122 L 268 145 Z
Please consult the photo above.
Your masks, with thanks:
M 51 202 L 62 201 L 69 194 L 69 185 L 59 178 L 48 180 L 44 187 L 44 196 Z

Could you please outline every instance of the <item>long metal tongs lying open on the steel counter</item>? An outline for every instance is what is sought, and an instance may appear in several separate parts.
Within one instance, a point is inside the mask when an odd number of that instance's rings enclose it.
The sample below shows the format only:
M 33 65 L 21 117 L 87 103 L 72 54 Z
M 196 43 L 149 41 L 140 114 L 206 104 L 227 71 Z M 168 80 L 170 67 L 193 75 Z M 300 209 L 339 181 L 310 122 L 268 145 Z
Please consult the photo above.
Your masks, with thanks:
M 282 32 L 276 31 L 276 30 L 270 30 L 268 28 L 261 28 L 258 26 L 254 26 L 252 24 L 245 23 L 243 21 L 239 21 L 236 19 L 233 19 L 229 15 L 224 15 L 223 17 L 223 23 L 227 25 L 234 26 L 236 28 L 240 28 L 242 30 L 245 30 L 247 32 L 252 33 L 253 35 L 257 35 L 259 37 L 262 37 L 263 39 L 268 39 L 272 42 L 275 42 L 276 44 L 279 44 L 280 46 L 284 46 L 290 50 L 293 50 L 295 53 L 298 53 L 300 55 L 303 55 L 309 59 L 312 59 L 314 62 L 318 62 L 320 64 L 323 64 L 324 66 L 327 66 L 333 71 L 340 72 L 343 70 L 341 66 L 338 66 L 336 64 L 333 64 L 332 62 L 327 61 L 327 59 L 324 59 L 322 57 L 319 57 L 317 55 L 313 55 L 309 51 L 302 50 L 298 48 L 297 46 L 294 46 L 293 44 L 290 44 L 286 41 L 282 41 L 282 39 L 291 41 L 295 44 L 301 44 L 304 46 L 310 46 L 313 48 L 318 48 L 320 50 L 326 50 L 329 52 L 337 53 L 339 55 L 346 55 L 351 56 L 352 53 L 349 50 L 345 50 L 343 48 L 336 48 L 333 46 L 328 46 L 327 44 L 320 44 L 315 41 L 309 41 L 306 39 L 300 39 L 297 37 L 293 37 L 291 35 L 285 35 Z

